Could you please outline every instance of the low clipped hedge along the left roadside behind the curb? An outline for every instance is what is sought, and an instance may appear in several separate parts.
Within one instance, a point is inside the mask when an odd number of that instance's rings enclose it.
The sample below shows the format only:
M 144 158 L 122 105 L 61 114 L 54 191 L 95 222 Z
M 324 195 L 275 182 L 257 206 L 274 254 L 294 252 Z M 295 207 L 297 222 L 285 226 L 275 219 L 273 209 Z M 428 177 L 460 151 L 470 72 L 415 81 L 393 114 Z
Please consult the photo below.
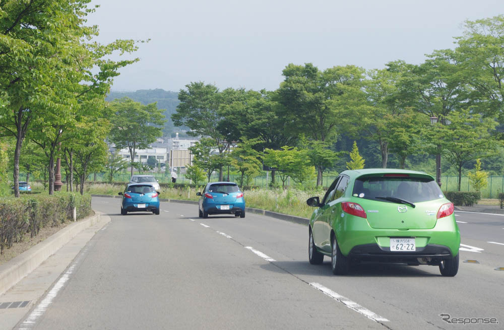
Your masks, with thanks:
M 58 226 L 73 218 L 76 208 L 77 219 L 91 212 L 91 195 L 61 192 L 54 195 L 26 194 L 20 198 L 0 199 L 0 253 L 4 247 L 21 241 L 25 233 L 34 237 L 43 227 Z

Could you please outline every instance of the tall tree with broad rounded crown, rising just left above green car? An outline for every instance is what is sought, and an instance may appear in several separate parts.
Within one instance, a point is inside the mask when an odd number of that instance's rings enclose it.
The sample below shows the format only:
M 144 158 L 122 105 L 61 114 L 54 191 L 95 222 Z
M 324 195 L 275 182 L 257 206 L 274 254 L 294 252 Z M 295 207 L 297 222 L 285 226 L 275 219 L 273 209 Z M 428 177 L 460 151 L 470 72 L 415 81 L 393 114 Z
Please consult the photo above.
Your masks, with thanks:
M 278 101 L 284 106 L 283 117 L 291 131 L 326 142 L 343 133 L 343 127 L 353 127 L 348 124 L 351 114 L 365 103 L 363 69 L 347 65 L 321 72 L 311 63 L 291 63 L 282 74 L 285 79 L 278 89 Z M 318 182 L 322 181 L 320 170 Z

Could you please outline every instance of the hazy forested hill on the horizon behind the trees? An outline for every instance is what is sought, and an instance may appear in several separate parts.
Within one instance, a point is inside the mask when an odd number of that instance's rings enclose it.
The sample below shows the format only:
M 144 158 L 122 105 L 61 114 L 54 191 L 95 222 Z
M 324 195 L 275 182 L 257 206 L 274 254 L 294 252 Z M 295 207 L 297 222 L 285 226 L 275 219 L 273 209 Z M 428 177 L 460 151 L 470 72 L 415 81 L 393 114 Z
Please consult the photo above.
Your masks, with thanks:
M 115 99 L 120 99 L 123 97 L 129 97 L 130 99 L 140 102 L 142 104 L 149 104 L 157 102 L 158 109 L 166 109 L 164 115 L 166 116 L 166 123 L 164 124 L 163 135 L 165 137 L 170 137 L 174 131 L 177 130 L 173 126 L 171 121 L 171 114 L 175 112 L 175 109 L 180 103 L 178 101 L 178 93 L 165 91 L 163 89 L 141 89 L 136 92 L 110 92 L 110 94 L 105 98 L 106 101 L 111 102 Z

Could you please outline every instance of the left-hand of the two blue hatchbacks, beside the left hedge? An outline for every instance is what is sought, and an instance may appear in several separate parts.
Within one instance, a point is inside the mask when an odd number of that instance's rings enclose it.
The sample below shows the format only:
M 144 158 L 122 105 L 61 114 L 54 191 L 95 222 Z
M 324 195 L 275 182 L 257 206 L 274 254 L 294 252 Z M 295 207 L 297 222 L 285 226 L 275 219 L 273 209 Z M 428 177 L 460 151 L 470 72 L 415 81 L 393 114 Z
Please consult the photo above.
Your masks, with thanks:
M 121 214 L 146 211 L 159 214 L 159 192 L 152 184 L 128 184 L 124 192 L 119 192 L 121 199 Z

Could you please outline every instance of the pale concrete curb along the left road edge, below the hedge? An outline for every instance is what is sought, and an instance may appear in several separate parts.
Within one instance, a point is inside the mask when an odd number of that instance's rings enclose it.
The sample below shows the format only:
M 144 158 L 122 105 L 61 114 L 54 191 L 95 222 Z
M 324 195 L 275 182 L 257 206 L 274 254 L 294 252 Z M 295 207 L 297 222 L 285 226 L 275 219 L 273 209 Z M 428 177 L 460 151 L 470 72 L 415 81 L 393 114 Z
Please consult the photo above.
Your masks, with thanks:
M 67 244 L 81 231 L 100 222 L 102 214 L 101 212 L 95 212 L 94 216 L 71 223 L 49 236 L 43 242 L 7 261 L 4 265 L 0 265 L 0 295 L 33 272 L 45 259 Z M 104 218 L 110 219 L 109 217 Z

